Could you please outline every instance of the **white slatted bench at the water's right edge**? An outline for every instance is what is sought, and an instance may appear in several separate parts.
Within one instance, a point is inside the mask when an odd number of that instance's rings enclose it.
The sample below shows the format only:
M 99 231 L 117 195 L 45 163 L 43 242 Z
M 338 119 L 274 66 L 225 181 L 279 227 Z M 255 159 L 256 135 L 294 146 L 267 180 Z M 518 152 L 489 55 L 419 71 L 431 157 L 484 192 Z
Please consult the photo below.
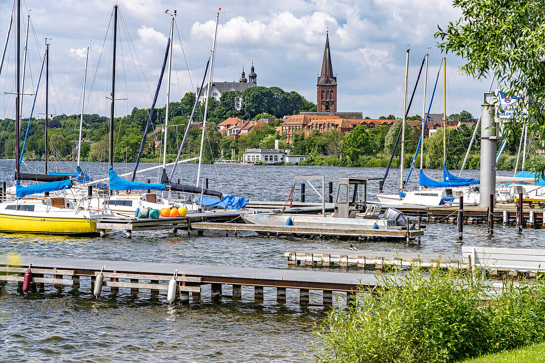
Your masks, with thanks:
M 545 273 L 545 250 L 468 246 L 462 247 L 462 255 L 464 263 L 471 268 L 493 270 L 496 274 L 498 270 L 511 271 L 513 277 L 519 271 L 531 275 Z

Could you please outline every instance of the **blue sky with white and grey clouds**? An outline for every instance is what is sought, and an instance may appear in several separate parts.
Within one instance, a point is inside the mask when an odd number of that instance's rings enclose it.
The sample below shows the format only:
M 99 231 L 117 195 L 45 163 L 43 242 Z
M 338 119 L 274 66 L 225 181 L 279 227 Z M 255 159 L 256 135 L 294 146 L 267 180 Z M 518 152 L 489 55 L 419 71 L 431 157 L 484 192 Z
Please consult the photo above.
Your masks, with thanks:
M 109 116 L 112 63 L 112 9 L 110 0 L 58 0 L 22 3 L 21 49 L 27 15 L 31 15 L 23 116 L 28 117 L 36 92 L 45 38 L 50 43 L 50 113 L 80 113 L 86 49 L 90 45 L 85 113 Z M 239 0 L 160 1 L 119 0 L 116 65 L 116 116 L 132 108 L 150 107 L 165 56 L 171 16 L 175 28 L 171 101 L 180 100 L 202 81 L 214 37 L 216 12 L 219 29 L 214 81 L 235 81 L 245 68 L 255 66 L 258 86 L 295 90 L 316 102 L 317 75 L 322 66 L 326 29 L 337 74 L 337 111 L 360 111 L 378 118 L 402 116 L 405 55 L 410 49 L 408 94 L 413 90 L 422 57 L 429 53 L 427 102 L 432 94 L 441 58 L 433 34 L 460 12 L 447 0 Z M 0 0 L 0 41 L 7 34 L 13 1 Z M 29 11 L 30 10 L 30 11 Z M 0 117 L 15 114 L 15 32 L 10 35 L 0 74 L 3 107 Z M 431 47 L 431 49 L 428 49 Z M 22 52 L 22 51 L 21 51 Z M 23 56 L 21 55 L 21 58 Z M 447 114 L 470 111 L 479 116 L 489 81 L 461 75 L 464 62 L 447 55 Z M 43 76 L 45 78 L 45 71 Z M 158 107 L 166 103 L 166 80 Z M 34 116 L 45 112 L 45 80 L 40 83 Z M 422 114 L 423 74 L 409 114 Z M 427 106 L 426 106 L 427 108 Z M 443 113 L 443 74 L 439 78 L 431 113 Z

